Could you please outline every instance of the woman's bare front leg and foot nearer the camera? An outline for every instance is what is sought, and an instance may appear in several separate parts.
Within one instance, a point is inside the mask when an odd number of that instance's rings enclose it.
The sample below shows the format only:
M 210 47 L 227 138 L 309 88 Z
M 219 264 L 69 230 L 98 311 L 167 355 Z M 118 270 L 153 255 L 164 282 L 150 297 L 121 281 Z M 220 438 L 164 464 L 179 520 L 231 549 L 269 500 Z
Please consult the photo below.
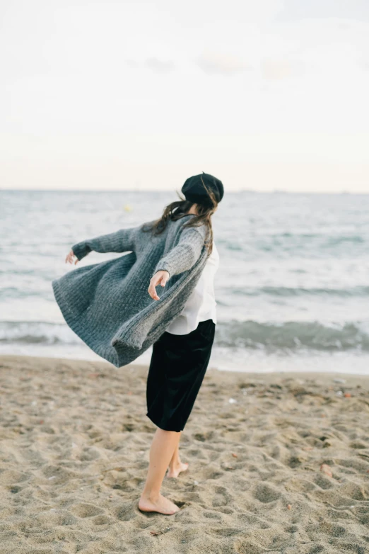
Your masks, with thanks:
M 139 509 L 142 511 L 158 511 L 160 514 L 171 515 L 179 511 L 170 499 L 160 494 L 160 488 L 165 477 L 165 471 L 172 459 L 175 448 L 180 440 L 177 431 L 156 429 L 150 448 L 150 463 L 144 490 L 139 499 Z

